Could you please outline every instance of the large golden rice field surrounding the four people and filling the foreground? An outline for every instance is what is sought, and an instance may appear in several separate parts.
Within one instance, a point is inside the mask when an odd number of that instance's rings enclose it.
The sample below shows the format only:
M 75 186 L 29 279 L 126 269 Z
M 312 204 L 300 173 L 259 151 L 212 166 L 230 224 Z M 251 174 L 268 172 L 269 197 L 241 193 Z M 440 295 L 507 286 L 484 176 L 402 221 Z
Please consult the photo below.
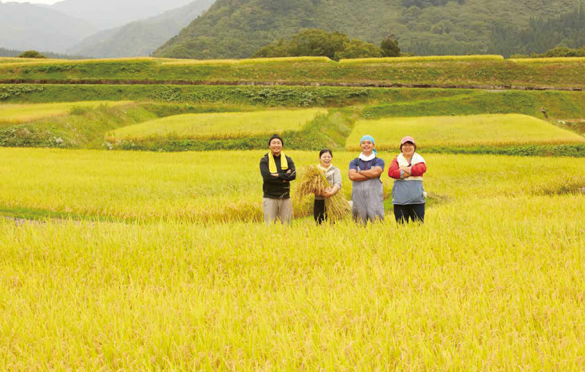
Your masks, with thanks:
M 585 159 L 423 153 L 424 226 L 269 229 L 262 155 L 0 149 L 3 212 L 141 218 L 0 218 L 0 370 L 585 369 Z

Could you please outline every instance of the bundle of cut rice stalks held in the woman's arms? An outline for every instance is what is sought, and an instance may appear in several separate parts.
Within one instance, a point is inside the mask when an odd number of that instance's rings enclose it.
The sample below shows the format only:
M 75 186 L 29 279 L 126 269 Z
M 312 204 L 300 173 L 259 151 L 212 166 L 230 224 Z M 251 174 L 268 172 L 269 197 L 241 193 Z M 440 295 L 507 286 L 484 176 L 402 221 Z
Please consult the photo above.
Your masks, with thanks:
M 322 194 L 326 188 L 330 187 L 323 170 L 314 165 L 305 168 L 303 177 L 301 177 L 297 185 L 297 195 L 299 197 Z M 328 221 L 336 221 L 348 215 L 351 207 L 347 200 L 337 193 L 325 199 L 325 210 L 327 211 Z

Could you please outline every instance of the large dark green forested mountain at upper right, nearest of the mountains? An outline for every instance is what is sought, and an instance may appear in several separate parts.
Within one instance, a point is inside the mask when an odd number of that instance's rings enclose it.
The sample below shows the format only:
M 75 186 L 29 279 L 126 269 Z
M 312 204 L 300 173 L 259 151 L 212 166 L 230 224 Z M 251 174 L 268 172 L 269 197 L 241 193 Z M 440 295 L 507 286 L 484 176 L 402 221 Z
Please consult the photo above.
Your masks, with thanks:
M 528 28 L 531 17 L 558 17 L 580 1 L 217 0 L 154 55 L 245 58 L 305 28 L 340 31 L 378 45 L 391 29 L 405 52 L 481 54 L 491 50 L 494 28 Z

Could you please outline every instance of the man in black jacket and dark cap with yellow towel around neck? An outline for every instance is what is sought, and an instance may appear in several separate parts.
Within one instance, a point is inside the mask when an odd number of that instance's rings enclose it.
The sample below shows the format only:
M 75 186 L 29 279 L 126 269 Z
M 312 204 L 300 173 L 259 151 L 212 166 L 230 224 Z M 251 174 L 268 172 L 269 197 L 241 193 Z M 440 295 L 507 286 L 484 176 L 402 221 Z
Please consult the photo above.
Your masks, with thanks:
M 267 225 L 280 220 L 290 224 L 293 218 L 293 202 L 290 201 L 290 182 L 297 178 L 293 159 L 284 155 L 284 141 L 279 135 L 268 140 L 270 152 L 260 159 L 260 174 L 263 179 L 262 209 Z

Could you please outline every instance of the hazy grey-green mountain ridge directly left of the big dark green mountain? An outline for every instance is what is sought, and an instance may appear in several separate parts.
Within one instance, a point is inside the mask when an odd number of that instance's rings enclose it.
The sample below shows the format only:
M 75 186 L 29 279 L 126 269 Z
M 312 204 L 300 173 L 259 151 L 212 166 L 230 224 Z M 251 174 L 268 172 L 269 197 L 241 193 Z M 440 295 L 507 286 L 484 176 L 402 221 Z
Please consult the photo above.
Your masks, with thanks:
M 89 57 L 148 56 L 181 28 L 209 8 L 214 0 L 196 0 L 157 17 L 133 21 L 125 26 L 98 32 L 68 50 Z

